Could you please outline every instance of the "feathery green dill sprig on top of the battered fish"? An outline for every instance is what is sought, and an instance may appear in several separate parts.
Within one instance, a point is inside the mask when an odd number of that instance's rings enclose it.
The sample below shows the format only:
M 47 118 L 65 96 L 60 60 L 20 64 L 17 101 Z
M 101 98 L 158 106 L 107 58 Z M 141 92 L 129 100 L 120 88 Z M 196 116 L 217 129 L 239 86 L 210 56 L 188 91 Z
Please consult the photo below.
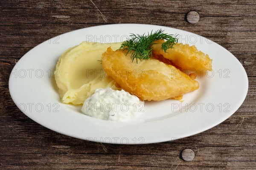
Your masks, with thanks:
M 166 52 L 167 49 L 172 48 L 172 46 L 178 42 L 177 36 L 173 37 L 174 35 L 169 35 L 163 33 L 164 30 L 159 29 L 156 32 L 153 33 L 153 30 L 148 35 L 135 35 L 131 34 L 128 40 L 124 41 L 121 44 L 121 47 L 119 49 L 127 50 L 127 53 L 131 53 L 131 60 L 132 62 L 134 59 L 136 59 L 136 62 L 138 63 L 138 59 L 140 61 L 148 60 L 149 58 L 152 58 L 152 49 L 151 46 L 156 40 L 166 40 L 162 44 L 161 49 Z

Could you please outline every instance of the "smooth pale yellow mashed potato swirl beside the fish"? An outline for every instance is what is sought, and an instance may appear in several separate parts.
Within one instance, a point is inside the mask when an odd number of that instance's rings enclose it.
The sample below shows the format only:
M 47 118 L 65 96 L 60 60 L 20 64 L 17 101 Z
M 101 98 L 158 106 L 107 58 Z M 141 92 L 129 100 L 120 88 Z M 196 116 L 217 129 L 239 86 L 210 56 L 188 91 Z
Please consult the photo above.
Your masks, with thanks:
M 121 43 L 84 41 L 62 53 L 56 65 L 55 81 L 63 103 L 83 104 L 95 89 L 115 86 L 102 68 L 101 57 L 108 47 L 119 49 Z

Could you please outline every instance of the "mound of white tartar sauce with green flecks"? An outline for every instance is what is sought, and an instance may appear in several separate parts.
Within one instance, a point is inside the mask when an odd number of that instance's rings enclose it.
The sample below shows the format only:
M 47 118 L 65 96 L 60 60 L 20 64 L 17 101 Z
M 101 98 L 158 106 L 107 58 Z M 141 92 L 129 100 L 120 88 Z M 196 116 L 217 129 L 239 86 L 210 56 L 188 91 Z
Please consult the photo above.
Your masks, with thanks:
M 88 116 L 111 121 L 126 121 L 144 112 L 144 101 L 124 90 L 96 89 L 84 101 L 81 111 Z

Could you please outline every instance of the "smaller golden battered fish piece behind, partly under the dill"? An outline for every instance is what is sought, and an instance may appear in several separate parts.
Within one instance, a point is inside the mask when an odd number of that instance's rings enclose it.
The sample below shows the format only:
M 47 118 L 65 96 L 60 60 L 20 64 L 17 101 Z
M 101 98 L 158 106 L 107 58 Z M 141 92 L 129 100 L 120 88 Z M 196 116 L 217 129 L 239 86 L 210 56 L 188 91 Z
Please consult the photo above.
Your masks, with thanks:
M 164 58 L 171 60 L 176 66 L 182 69 L 200 70 L 205 71 L 212 70 L 212 60 L 209 55 L 205 55 L 203 52 L 198 51 L 195 46 L 189 46 L 189 44 L 177 43 L 173 45 L 173 48 L 166 50 L 166 53 L 161 49 L 164 40 L 155 41 L 151 46 L 154 55 L 163 55 Z

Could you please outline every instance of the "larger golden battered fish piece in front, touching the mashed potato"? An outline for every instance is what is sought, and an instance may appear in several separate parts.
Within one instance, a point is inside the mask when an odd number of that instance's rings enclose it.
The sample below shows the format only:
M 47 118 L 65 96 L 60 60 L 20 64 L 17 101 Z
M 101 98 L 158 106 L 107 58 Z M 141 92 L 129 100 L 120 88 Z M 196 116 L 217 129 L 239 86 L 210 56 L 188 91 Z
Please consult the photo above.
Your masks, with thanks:
M 131 53 L 109 47 L 102 54 L 102 66 L 122 89 L 137 95 L 141 100 L 161 101 L 180 98 L 181 95 L 199 88 L 197 81 L 155 59 L 131 61 Z

